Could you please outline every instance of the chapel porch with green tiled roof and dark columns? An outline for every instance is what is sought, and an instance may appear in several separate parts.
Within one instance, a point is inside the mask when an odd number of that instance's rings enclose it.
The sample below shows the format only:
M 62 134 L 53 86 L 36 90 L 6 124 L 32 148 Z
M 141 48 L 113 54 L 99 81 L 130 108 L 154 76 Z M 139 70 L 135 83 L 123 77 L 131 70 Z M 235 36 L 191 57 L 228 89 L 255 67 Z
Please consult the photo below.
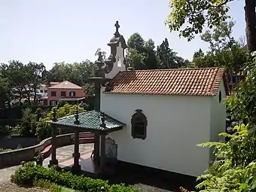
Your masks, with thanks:
M 75 172 L 81 170 L 81 165 L 79 164 L 79 133 L 94 133 L 93 162 L 100 167 L 100 172 L 103 173 L 105 170 L 105 136 L 108 133 L 121 130 L 125 126 L 124 123 L 99 111 L 87 111 L 78 114 L 78 108 L 76 114 L 59 119 L 56 118 L 56 110 L 54 110 L 53 119 L 48 122 L 52 125 L 52 147 L 49 166 L 58 165 L 58 160 L 56 159 L 56 148 L 58 146 L 56 140 L 57 129 L 72 129 L 75 132 L 74 165 L 72 166 L 72 171 Z

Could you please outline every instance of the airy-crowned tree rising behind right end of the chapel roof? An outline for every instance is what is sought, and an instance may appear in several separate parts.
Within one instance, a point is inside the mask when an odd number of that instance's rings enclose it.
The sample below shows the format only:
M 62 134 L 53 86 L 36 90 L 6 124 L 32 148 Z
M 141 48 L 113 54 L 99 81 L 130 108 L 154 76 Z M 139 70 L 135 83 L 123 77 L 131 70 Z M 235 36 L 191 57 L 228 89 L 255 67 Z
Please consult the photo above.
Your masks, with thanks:
M 197 67 L 223 67 L 227 75 L 236 75 L 241 72 L 247 62 L 245 47 L 241 47 L 232 36 L 234 22 L 221 22 L 212 31 L 207 30 L 201 39 L 209 43 L 209 52 L 202 50 L 194 53 L 193 62 Z

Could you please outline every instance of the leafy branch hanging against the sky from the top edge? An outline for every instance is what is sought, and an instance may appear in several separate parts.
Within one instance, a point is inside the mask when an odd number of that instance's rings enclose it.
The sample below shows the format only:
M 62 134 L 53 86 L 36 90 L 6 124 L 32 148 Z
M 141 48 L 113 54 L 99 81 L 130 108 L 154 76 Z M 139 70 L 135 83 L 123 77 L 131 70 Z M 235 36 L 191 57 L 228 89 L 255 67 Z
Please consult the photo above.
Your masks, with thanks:
M 190 41 L 195 34 L 203 31 L 203 26 L 219 26 L 222 21 L 227 20 L 227 12 L 229 7 L 227 2 L 231 0 L 171 0 L 169 14 L 166 24 L 170 31 L 178 31 L 180 36 L 183 36 Z M 187 23 L 183 29 L 182 26 Z M 182 28 L 182 29 L 181 29 Z

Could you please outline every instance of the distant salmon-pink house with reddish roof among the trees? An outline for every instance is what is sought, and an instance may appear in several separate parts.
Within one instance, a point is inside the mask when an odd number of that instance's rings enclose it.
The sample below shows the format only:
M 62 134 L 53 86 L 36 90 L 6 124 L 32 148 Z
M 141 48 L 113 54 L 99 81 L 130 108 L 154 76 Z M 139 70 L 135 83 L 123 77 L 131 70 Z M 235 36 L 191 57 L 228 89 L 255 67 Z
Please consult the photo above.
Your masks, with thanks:
M 84 99 L 83 88 L 72 82 L 51 82 L 51 85 L 47 88 L 47 99 L 50 106 L 57 105 L 59 101 L 75 104 Z

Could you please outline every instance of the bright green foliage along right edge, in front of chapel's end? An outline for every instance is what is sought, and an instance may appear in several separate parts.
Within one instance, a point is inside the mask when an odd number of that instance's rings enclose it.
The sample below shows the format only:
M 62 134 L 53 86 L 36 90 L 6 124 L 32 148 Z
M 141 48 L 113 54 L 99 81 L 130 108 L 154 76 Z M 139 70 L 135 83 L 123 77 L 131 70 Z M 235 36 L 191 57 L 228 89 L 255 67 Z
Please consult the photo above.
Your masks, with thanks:
M 214 148 L 215 161 L 198 178 L 200 191 L 254 191 L 256 190 L 256 59 L 248 64 L 245 82 L 240 82 L 227 99 L 231 119 L 246 122 L 233 128 L 233 135 L 221 133 L 229 142 L 209 142 L 200 147 Z

